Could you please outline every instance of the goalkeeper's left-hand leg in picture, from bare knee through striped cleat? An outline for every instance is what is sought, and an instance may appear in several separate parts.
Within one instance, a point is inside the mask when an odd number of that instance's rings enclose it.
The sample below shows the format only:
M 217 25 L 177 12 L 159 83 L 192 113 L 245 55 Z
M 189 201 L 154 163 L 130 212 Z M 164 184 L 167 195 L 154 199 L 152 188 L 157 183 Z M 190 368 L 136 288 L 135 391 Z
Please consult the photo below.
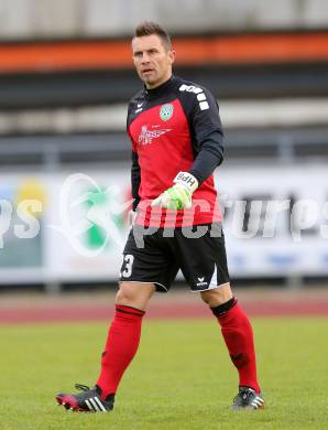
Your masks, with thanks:
M 58 405 L 81 412 L 106 412 L 113 408 L 114 395 L 124 370 L 133 359 L 146 304 L 155 291 L 153 283 L 122 282 L 116 299 L 116 314 L 109 327 L 101 372 L 95 387 L 76 384 L 80 394 L 59 393 Z

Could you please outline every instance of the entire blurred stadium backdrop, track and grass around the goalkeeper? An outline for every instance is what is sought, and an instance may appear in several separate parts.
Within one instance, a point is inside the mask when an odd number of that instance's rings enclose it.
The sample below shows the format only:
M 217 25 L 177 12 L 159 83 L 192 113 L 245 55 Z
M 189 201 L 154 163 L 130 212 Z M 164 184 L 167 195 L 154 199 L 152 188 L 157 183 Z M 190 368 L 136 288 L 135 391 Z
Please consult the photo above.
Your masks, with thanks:
M 144 19 L 174 36 L 176 74 L 220 104 L 217 183 L 261 413 L 228 410 L 236 373 L 183 282 L 150 303 L 112 413 L 54 405 L 96 379 L 112 316 L 140 87 L 130 37 Z M 1 430 L 328 428 L 327 65 L 325 0 L 0 0 Z M 273 200 L 288 208 L 262 237 Z

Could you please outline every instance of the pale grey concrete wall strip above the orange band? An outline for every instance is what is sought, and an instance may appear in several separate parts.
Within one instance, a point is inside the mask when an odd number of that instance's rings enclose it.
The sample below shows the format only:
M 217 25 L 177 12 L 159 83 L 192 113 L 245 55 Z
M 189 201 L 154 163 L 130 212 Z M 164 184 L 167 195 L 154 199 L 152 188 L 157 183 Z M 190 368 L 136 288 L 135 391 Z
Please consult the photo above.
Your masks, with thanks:
M 145 19 L 172 32 L 328 25 L 326 0 L 0 0 L 0 37 L 130 34 Z

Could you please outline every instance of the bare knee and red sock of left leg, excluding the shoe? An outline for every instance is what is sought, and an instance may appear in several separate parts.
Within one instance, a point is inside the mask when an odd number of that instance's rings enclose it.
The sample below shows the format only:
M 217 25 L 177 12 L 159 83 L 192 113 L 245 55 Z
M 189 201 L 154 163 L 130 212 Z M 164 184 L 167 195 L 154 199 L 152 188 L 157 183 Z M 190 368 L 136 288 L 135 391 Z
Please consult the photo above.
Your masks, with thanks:
M 106 399 L 114 395 L 124 370 L 133 359 L 141 335 L 142 316 L 155 291 L 153 283 L 122 282 L 116 314 L 109 327 L 97 386 Z

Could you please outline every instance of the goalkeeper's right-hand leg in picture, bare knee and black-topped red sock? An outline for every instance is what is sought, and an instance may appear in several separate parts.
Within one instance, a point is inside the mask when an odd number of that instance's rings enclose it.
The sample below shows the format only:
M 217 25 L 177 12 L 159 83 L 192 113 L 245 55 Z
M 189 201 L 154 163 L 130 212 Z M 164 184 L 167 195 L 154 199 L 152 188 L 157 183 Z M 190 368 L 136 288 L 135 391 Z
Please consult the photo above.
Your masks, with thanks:
M 256 361 L 251 323 L 232 295 L 230 283 L 201 291 L 201 299 L 217 318 L 232 363 L 239 373 L 239 386 L 261 389 L 256 376 Z M 256 400 L 258 401 L 258 400 Z M 259 407 L 262 407 L 261 399 Z

